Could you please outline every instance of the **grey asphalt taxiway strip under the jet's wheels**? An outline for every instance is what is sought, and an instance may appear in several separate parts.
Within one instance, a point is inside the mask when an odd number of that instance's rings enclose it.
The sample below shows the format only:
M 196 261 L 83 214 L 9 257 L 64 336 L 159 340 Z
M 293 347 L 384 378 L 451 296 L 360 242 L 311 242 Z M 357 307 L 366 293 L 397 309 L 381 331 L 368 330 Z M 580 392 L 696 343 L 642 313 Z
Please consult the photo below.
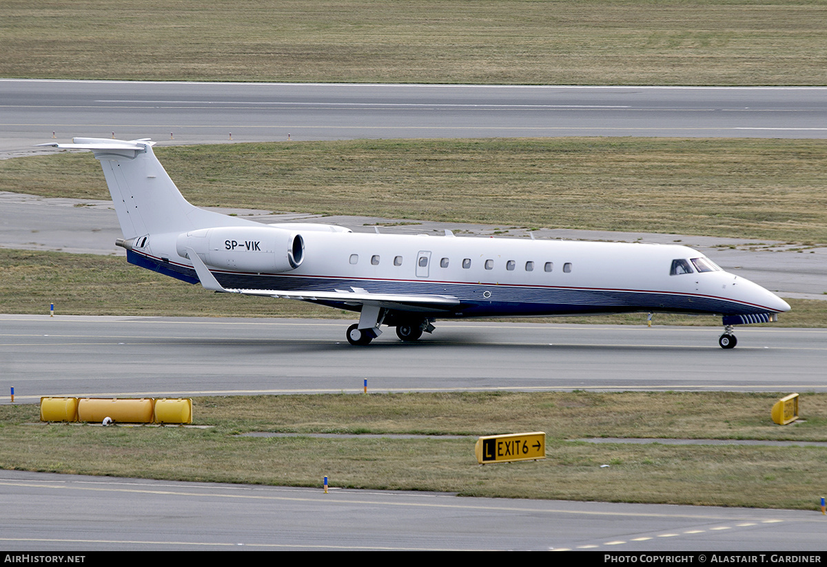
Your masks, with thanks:
M 402 343 L 348 320 L 0 315 L 0 393 L 203 396 L 438 390 L 827 391 L 827 330 L 437 322 Z M 7 400 L 7 398 L 5 398 Z

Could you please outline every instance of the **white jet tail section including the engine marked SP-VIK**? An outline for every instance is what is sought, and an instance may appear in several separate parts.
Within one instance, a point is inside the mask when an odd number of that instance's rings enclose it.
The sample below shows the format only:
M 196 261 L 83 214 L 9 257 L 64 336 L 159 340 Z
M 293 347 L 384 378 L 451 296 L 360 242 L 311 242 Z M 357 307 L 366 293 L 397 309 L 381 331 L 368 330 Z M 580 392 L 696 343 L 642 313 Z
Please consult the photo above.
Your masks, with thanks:
M 307 225 L 263 225 L 187 202 L 152 151 L 154 142 L 74 138 L 57 148 L 91 150 L 112 194 L 130 264 L 197 284 L 189 250 L 213 269 L 280 273 L 299 267 Z M 330 230 L 323 226 L 323 230 Z M 318 229 L 315 229 L 318 230 Z M 347 229 L 342 229 L 347 230 Z

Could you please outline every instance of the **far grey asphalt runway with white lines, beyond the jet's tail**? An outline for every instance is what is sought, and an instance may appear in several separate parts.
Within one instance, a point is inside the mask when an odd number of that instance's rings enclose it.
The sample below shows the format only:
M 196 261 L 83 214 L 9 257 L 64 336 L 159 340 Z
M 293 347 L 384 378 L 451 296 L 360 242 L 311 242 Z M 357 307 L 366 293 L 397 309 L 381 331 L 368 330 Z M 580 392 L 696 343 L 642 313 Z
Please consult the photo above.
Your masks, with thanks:
M 533 136 L 827 137 L 827 87 L 153 83 L 0 79 L 0 153 L 160 143 Z M 172 136 L 170 136 L 170 134 Z M 172 138 L 170 140 L 170 138 Z

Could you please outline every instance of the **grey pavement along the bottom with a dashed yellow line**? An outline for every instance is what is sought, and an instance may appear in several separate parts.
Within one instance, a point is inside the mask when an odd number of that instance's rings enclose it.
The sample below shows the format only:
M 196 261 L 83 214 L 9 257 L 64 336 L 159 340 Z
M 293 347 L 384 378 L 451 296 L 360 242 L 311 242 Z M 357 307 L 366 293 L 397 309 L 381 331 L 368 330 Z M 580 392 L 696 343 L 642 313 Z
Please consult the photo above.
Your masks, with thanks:
M 816 512 L 571 503 L 0 470 L 4 550 L 823 548 Z M 215 513 L 221 510 L 220 514 Z M 820 554 L 819 554 L 820 555 Z M 767 557 L 768 560 L 768 557 Z M 713 560 L 714 561 L 714 560 Z

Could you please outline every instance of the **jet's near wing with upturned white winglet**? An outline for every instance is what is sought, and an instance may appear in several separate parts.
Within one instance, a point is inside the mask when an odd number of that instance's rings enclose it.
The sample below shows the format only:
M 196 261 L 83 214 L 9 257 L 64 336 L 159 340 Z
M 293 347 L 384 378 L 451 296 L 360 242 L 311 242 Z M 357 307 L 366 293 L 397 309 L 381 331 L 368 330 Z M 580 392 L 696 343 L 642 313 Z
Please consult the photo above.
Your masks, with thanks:
M 209 271 L 207 265 L 192 248 L 187 248 L 189 261 L 193 263 L 198 279 L 205 289 L 224 293 L 260 295 L 270 298 L 299 299 L 302 301 L 335 301 L 351 305 L 373 305 L 400 311 L 446 312 L 459 305 L 460 300 L 452 295 L 424 295 L 415 293 L 370 293 L 363 288 L 352 291 L 337 289 L 332 292 L 297 292 L 280 289 L 236 289 L 224 288 Z

